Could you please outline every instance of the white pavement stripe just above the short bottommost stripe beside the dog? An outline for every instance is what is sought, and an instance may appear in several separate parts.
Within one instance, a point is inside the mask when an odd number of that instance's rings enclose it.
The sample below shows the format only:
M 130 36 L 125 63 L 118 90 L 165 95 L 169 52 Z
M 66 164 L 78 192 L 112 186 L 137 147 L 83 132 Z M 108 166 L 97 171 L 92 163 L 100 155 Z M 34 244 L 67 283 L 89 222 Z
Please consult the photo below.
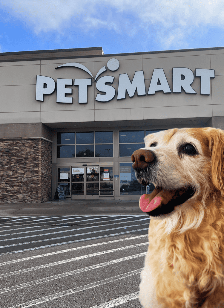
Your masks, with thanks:
M 139 270 L 136 270 L 136 271 L 133 271 L 133 272 L 130 272 L 130 273 L 125 273 L 125 274 L 118 275 L 118 276 L 114 276 L 114 277 L 107 278 L 107 279 L 104 279 L 104 280 L 100 280 L 100 281 L 97 281 L 97 282 L 93 282 L 93 283 L 90 283 L 90 284 L 85 285 L 85 286 L 80 286 L 80 287 L 77 287 L 77 288 L 74 288 L 74 289 L 58 292 L 58 293 L 51 294 L 51 295 L 48 295 L 48 296 L 44 296 L 42 298 L 34 299 L 33 301 L 18 304 L 16 306 L 12 306 L 12 307 L 9 307 L 9 308 L 28 308 L 28 307 L 36 306 L 38 304 L 49 302 L 49 301 L 52 301 L 54 299 L 66 296 L 66 295 L 71 295 L 71 294 L 78 293 L 78 292 L 88 290 L 88 289 L 91 289 L 91 288 L 96 288 L 98 286 L 105 285 L 106 283 L 114 282 L 114 281 L 120 280 L 122 278 L 127 278 L 127 277 L 137 275 L 137 274 L 139 274 Z

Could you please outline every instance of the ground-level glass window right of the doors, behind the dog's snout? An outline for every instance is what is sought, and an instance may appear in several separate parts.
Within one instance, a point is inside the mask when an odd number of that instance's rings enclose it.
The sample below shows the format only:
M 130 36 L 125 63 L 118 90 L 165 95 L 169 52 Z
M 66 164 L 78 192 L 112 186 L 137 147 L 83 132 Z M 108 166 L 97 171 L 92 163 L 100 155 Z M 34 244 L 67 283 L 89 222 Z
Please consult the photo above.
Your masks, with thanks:
M 143 195 L 144 193 L 146 186 L 136 180 L 132 163 L 120 163 L 120 194 Z

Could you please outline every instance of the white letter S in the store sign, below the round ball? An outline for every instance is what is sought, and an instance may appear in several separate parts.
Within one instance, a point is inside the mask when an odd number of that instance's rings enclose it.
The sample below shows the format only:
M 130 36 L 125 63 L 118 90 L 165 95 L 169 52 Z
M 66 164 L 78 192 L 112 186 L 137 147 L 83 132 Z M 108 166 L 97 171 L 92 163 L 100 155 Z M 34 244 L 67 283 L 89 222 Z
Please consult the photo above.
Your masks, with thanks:
M 96 99 L 98 102 L 109 102 L 115 96 L 115 89 L 106 83 L 113 83 L 113 76 L 103 76 L 96 82 L 96 88 L 98 91 L 105 92 L 106 94 L 97 94 Z

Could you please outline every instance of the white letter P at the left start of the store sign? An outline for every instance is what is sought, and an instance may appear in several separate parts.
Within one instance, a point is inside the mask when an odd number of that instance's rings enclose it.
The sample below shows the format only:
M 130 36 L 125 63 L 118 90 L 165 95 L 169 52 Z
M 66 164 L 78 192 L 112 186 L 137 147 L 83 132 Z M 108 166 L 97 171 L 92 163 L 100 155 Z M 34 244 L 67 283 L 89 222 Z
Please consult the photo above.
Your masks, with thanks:
M 36 100 L 44 101 L 44 94 L 53 94 L 55 91 L 54 79 L 46 76 L 37 75 Z

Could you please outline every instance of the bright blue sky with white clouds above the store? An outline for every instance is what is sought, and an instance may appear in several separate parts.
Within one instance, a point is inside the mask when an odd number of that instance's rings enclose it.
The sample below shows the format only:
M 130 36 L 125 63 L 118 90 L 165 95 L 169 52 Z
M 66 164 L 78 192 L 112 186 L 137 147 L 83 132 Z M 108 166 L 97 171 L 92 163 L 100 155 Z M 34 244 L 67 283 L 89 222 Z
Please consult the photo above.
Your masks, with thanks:
M 224 1 L 0 0 L 0 52 L 224 46 Z

